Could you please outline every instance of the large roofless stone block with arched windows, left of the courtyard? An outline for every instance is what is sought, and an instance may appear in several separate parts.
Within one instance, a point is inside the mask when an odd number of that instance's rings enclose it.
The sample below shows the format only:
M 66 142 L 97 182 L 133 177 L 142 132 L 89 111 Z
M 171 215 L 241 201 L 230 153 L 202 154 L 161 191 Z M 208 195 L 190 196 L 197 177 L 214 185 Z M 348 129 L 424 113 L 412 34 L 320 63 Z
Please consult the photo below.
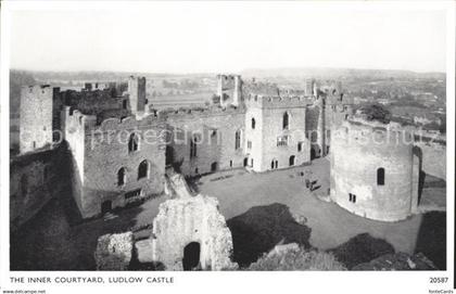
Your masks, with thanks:
M 65 139 L 72 158 L 73 196 L 84 218 L 163 192 L 165 174 L 164 120 L 154 115 L 137 120 L 110 118 L 97 125 L 93 116 L 66 110 Z M 131 135 L 138 149 L 129 150 Z M 139 178 L 144 163 L 147 176 Z M 125 172 L 119 182 L 119 170 Z

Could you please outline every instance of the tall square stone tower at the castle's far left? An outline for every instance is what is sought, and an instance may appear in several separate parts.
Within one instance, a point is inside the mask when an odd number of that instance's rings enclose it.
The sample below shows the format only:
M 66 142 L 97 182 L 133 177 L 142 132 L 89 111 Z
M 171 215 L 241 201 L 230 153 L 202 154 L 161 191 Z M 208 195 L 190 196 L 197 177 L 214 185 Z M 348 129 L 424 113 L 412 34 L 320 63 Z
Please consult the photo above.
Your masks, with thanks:
M 21 89 L 20 152 L 52 143 L 52 88 L 24 86 Z

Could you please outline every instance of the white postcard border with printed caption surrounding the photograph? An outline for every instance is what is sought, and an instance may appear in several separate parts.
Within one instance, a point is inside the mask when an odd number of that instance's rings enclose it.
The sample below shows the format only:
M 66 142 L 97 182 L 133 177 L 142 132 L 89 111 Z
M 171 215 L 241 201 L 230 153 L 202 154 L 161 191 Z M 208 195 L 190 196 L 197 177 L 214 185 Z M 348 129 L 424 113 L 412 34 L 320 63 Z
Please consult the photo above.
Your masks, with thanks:
M 164 3 L 164 2 L 160 2 Z M 173 2 L 178 4 L 176 2 Z M 204 3 L 204 2 L 199 2 Z M 261 4 L 249 2 L 249 4 Z M 136 2 L 136 8 L 150 9 L 155 3 Z M 169 3 L 166 3 L 169 4 Z M 213 4 L 213 3 L 211 3 Z M 236 2 L 242 5 L 243 2 Z M 189 292 L 230 292 L 230 293 L 339 293 L 347 291 L 350 293 L 385 293 L 389 290 L 393 293 L 429 293 L 428 290 L 449 290 L 453 289 L 454 271 L 454 152 L 455 152 L 455 4 L 453 1 L 401 1 L 401 2 L 289 2 L 288 4 L 312 5 L 315 9 L 329 10 L 446 10 L 447 11 L 447 271 L 433 272 L 90 272 L 90 271 L 9 271 L 9 56 L 10 56 L 10 25 L 11 12 L 16 10 L 80 10 L 80 9 L 128 9 L 128 2 L 2 2 L 1 5 L 1 182 L 0 182 L 0 284 L 1 290 L 42 290 L 47 293 L 96 293 L 103 290 L 124 293 L 128 291 L 128 284 L 102 286 L 88 286 L 84 284 L 66 284 L 63 286 L 49 285 L 11 285 L 10 276 L 15 277 L 174 277 L 173 285 L 138 285 L 131 291 L 137 293 L 151 293 L 154 291 L 163 293 Z M 109 7 L 109 8 L 107 8 Z M 39 254 L 39 253 L 37 253 Z M 429 277 L 448 277 L 449 282 L 446 286 L 439 286 L 429 283 Z

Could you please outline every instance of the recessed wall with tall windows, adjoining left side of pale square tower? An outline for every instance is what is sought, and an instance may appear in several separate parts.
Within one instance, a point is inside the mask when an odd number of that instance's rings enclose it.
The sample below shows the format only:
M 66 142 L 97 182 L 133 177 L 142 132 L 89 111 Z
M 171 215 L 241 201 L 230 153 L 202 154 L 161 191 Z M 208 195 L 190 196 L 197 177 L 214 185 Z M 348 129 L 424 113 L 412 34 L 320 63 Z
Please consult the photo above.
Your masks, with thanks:
M 172 113 L 167 117 L 170 136 L 168 149 L 173 162 L 186 176 L 195 176 L 216 170 L 243 166 L 244 112 Z M 236 132 L 241 132 L 240 148 L 236 149 Z M 197 156 L 190 156 L 192 136 L 201 138 L 197 143 Z

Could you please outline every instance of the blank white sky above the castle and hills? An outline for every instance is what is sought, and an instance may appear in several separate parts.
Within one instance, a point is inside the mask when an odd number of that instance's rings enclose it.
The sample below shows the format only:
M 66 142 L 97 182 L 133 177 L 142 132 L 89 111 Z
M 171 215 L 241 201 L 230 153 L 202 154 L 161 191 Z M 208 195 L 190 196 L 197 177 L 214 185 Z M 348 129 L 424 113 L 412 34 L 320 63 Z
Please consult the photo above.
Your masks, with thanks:
M 219 73 L 350 67 L 445 72 L 445 13 L 305 2 L 152 2 L 11 15 L 11 67 Z

